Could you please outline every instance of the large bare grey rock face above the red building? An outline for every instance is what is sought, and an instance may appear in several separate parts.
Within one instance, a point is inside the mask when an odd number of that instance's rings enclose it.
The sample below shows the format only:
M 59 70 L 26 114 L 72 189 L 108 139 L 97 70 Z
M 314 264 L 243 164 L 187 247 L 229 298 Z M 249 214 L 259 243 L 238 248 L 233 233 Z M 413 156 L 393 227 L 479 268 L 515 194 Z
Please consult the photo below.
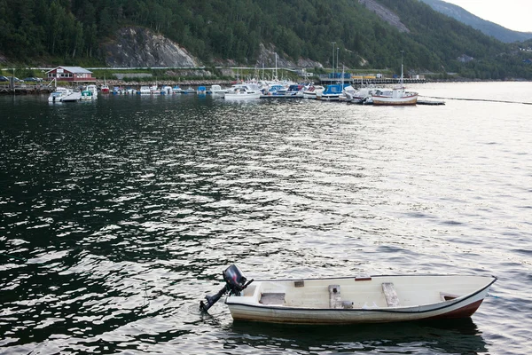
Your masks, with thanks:
M 102 45 L 109 67 L 200 67 L 200 60 L 179 44 L 147 28 L 121 28 Z

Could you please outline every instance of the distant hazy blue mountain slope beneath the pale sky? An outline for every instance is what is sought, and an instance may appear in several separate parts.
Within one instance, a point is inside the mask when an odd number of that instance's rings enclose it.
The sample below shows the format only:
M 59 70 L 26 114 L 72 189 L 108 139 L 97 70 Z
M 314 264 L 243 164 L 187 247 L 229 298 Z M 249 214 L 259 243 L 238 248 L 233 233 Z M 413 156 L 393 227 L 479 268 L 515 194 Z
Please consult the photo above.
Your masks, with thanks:
M 493 36 L 501 42 L 522 42 L 532 38 L 532 33 L 530 32 L 512 31 L 511 29 L 497 25 L 497 23 L 493 23 L 488 20 L 483 20 L 480 17 L 473 15 L 473 13 L 471 12 L 465 11 L 464 9 L 455 4 L 446 3 L 442 0 L 420 1 L 430 5 L 435 11 L 442 12 L 444 15 L 450 16 L 451 18 L 465 23 L 465 25 L 469 25 L 472 28 L 476 28 L 485 35 Z

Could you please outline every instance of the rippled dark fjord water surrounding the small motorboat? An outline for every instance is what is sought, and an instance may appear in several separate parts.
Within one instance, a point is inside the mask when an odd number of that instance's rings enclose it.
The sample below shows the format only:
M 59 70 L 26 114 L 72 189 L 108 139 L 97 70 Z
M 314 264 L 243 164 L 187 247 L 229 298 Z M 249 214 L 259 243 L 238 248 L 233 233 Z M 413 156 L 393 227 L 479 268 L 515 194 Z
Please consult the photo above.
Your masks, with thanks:
M 414 86 L 532 102 L 532 83 Z M 529 354 L 532 106 L 0 97 L 0 353 Z M 299 327 L 199 301 L 248 278 L 465 273 L 472 319 Z

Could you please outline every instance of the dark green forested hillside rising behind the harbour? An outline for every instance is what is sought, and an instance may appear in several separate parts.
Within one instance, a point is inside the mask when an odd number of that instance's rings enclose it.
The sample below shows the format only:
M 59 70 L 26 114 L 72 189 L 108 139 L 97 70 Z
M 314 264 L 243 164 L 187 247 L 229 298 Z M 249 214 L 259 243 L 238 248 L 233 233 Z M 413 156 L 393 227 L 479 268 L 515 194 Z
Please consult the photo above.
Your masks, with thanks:
M 351 68 L 405 66 L 468 77 L 532 78 L 515 46 L 498 42 L 417 0 L 379 0 L 410 32 L 379 19 L 358 0 L 0 0 L 0 55 L 8 61 L 104 63 L 101 43 L 138 25 L 179 43 L 204 63 L 257 65 L 261 43 L 278 55 Z M 458 57 L 473 58 L 462 63 Z

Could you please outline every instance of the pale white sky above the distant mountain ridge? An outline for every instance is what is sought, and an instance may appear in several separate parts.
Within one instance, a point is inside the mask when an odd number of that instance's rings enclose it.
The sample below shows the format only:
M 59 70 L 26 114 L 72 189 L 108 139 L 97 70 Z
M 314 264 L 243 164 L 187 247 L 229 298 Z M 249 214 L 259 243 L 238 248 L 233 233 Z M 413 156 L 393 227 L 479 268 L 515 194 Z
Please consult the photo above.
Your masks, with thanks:
M 443 0 L 514 31 L 532 32 L 532 0 Z

